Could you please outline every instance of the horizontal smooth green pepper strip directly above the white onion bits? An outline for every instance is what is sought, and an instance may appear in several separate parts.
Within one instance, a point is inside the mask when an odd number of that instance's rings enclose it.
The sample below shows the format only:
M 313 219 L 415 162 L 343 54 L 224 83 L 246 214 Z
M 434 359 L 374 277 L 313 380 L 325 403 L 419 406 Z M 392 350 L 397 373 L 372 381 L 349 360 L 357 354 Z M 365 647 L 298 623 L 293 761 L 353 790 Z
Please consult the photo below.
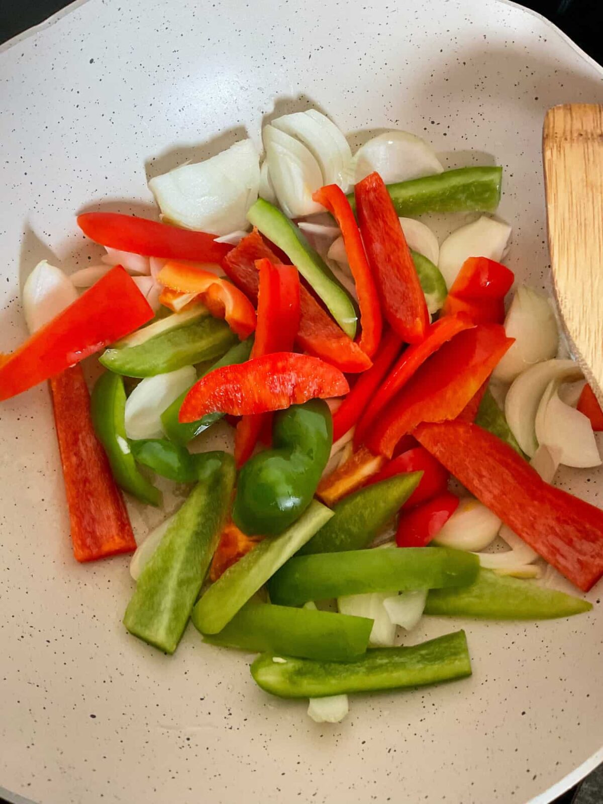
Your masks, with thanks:
M 449 548 L 351 550 L 295 556 L 268 585 L 270 600 L 301 605 L 368 592 L 467 586 L 478 576 L 473 553 Z

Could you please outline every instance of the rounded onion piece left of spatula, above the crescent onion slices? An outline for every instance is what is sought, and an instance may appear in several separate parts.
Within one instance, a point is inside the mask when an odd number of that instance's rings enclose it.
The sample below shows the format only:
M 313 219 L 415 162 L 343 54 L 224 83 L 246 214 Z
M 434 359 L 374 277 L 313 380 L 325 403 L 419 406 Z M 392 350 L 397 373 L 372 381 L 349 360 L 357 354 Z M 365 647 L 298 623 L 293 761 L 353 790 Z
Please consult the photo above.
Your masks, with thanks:
M 557 354 L 559 330 L 548 297 L 526 285 L 515 291 L 505 318 L 505 332 L 515 343 L 507 349 L 493 377 L 512 383 L 522 371 Z

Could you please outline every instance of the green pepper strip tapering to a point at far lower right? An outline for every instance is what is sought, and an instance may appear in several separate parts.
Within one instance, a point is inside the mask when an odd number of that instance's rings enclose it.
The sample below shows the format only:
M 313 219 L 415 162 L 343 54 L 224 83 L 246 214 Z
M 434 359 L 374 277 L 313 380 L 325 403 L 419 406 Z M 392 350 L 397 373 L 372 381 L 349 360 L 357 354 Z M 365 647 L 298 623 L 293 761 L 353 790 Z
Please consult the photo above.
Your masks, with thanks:
M 425 614 L 439 617 L 480 617 L 486 620 L 549 620 L 590 611 L 589 601 L 556 589 L 543 589 L 481 569 L 477 580 L 463 589 L 432 589 Z

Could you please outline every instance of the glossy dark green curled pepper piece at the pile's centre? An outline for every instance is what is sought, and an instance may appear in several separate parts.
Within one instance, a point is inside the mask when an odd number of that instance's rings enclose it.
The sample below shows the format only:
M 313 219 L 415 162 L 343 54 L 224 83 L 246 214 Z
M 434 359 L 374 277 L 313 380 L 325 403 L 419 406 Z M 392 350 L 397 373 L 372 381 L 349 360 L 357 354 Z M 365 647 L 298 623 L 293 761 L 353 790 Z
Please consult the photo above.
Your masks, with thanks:
M 252 457 L 240 470 L 232 519 L 248 535 L 285 531 L 314 496 L 329 460 L 333 421 L 323 400 L 278 411 L 273 449 Z

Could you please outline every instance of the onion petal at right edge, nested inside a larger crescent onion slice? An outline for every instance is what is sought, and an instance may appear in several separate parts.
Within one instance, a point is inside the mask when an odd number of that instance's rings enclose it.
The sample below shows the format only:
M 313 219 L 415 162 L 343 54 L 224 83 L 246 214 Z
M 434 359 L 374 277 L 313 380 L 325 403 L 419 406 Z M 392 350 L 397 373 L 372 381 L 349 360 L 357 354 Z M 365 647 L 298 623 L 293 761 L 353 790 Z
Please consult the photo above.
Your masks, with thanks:
M 535 419 L 538 443 L 558 450 L 564 466 L 601 466 L 593 425 L 584 413 L 560 400 L 559 386 L 560 380 L 552 379 L 540 400 Z

